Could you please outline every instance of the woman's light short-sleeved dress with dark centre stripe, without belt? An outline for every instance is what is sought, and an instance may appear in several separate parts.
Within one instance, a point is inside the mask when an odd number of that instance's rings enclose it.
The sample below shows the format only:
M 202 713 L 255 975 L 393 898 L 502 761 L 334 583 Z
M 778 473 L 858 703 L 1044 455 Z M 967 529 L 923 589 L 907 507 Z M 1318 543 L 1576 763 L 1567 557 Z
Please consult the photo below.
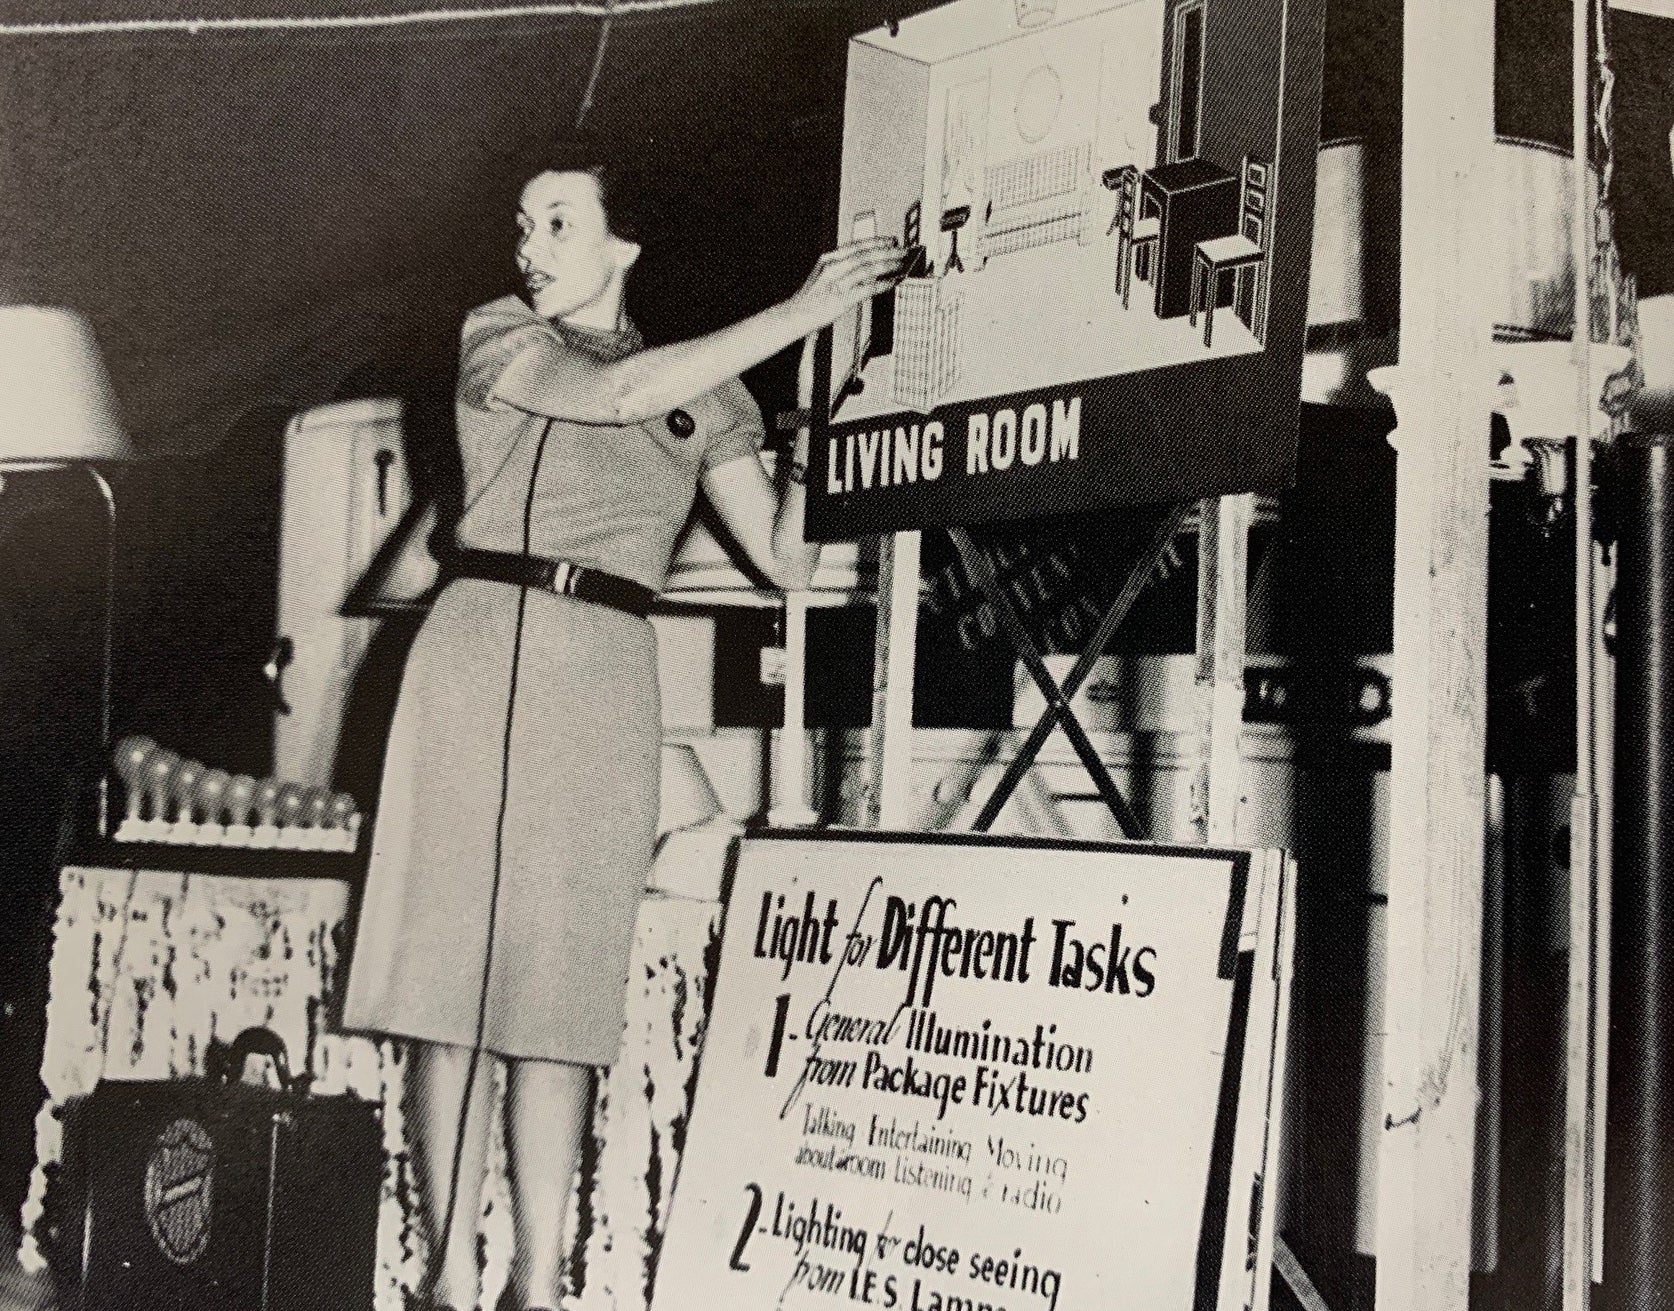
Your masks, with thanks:
M 501 372 L 537 337 L 559 347 L 559 368 L 641 348 L 633 328 L 551 323 L 516 296 L 470 313 L 459 541 L 516 553 L 527 536 L 532 554 L 661 588 L 698 479 L 758 450 L 760 410 L 737 380 L 685 407 L 691 425 L 490 409 Z M 660 745 L 648 621 L 449 583 L 407 658 L 345 1026 L 470 1046 L 485 988 L 485 1050 L 609 1065 L 656 835 Z

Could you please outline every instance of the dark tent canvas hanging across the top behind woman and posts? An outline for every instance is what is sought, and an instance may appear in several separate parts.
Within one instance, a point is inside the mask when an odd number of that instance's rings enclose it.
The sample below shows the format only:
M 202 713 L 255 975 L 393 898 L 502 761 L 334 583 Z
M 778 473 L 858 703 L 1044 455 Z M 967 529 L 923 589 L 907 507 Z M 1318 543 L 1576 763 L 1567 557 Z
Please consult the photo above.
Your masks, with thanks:
M 219 12 L 427 7 L 440 0 L 238 0 Z M 611 23 L 588 126 L 663 183 L 670 241 L 636 278 L 653 337 L 797 285 L 832 231 L 844 44 L 926 7 L 713 0 Z M 0 22 L 179 10 L 0 0 Z M 1567 10 L 1502 5 L 1502 132 L 1567 141 Z M 1667 28 L 1615 18 L 1624 246 L 1646 291 L 1669 285 Z M 512 198 L 573 129 L 599 30 L 581 13 L 0 35 L 0 298 L 85 311 L 136 439 L 157 455 L 204 452 L 264 404 L 295 409 L 347 383 L 445 368 L 462 311 L 512 285 Z M 1399 5 L 1331 5 L 1322 136 L 1366 137 L 1374 188 L 1399 157 Z M 1394 239 L 1381 224 L 1383 301 Z

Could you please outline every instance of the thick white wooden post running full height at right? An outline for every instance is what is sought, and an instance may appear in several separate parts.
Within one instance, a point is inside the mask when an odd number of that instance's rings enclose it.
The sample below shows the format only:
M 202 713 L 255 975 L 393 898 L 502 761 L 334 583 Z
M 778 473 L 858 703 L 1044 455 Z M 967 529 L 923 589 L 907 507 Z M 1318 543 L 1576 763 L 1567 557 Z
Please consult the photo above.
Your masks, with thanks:
M 1493 0 L 1406 0 L 1378 1311 L 1466 1311 L 1481 986 Z

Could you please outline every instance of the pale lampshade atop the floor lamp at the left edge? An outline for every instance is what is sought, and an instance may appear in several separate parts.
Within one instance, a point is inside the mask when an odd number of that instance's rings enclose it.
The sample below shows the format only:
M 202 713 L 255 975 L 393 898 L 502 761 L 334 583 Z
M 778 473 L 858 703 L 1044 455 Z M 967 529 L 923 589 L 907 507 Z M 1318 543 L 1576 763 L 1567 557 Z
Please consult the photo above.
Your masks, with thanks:
M 0 469 L 132 459 L 92 325 L 74 310 L 0 306 Z

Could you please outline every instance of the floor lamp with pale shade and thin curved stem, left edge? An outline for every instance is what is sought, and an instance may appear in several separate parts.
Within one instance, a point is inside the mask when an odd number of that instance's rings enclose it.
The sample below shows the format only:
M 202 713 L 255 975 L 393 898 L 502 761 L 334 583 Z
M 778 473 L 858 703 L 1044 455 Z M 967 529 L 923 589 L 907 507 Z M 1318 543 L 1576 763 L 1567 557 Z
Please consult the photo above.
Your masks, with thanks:
M 104 464 L 137 459 L 92 325 L 74 310 L 0 306 L 0 496 L 12 472 L 85 469 L 104 497 L 105 596 L 99 666 L 99 834 L 107 832 L 110 755 L 110 626 L 116 609 L 116 497 Z

